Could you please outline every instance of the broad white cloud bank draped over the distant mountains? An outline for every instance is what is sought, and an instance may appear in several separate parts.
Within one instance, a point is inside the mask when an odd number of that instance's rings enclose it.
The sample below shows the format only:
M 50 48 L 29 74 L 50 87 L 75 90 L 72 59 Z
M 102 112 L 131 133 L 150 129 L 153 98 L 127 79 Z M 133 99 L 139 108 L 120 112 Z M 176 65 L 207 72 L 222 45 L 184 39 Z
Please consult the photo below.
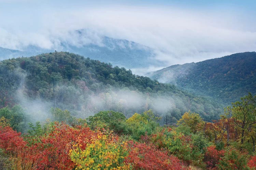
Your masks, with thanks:
M 252 25 L 250 18 L 243 20 L 228 11 L 219 14 L 219 11 L 188 11 L 175 7 L 112 6 L 52 12 L 48 9 L 37 15 L 40 18 L 33 20 L 40 26 L 32 32 L 17 31 L 19 28 L 12 32 L 0 29 L 0 46 L 20 49 L 32 44 L 56 48 L 60 41 L 75 46 L 102 45 L 101 36 L 105 35 L 154 48 L 158 54 L 156 58 L 166 61 L 167 65 L 256 49 L 256 32 L 252 29 L 256 24 Z M 78 29 L 87 29 L 87 37 L 81 39 L 72 34 Z

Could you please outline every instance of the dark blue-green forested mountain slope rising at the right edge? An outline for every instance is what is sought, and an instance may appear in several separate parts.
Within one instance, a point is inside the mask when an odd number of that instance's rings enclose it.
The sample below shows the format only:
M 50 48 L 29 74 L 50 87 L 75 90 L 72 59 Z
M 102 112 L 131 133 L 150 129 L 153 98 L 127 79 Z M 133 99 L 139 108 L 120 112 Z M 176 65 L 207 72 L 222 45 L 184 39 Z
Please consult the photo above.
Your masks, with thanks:
M 147 73 L 147 76 L 230 104 L 248 92 L 256 94 L 256 53 L 237 53 L 198 63 L 173 65 Z

